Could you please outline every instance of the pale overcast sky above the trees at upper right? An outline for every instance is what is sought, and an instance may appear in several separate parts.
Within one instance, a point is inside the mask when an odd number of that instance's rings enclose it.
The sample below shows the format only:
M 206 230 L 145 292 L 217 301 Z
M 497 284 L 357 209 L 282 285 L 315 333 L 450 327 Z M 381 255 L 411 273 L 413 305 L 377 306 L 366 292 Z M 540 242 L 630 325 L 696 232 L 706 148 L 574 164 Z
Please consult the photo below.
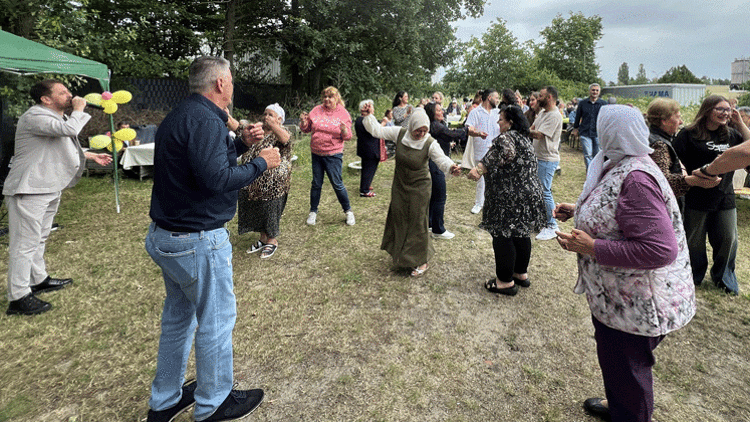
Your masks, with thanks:
M 729 79 L 735 59 L 750 58 L 750 3 L 747 0 L 487 0 L 484 15 L 454 23 L 462 41 L 480 38 L 502 18 L 520 41 L 541 42 L 539 31 L 558 14 L 602 17 L 596 61 L 605 82 L 617 81 L 628 63 L 635 77 L 643 63 L 649 78 L 687 65 L 697 77 Z

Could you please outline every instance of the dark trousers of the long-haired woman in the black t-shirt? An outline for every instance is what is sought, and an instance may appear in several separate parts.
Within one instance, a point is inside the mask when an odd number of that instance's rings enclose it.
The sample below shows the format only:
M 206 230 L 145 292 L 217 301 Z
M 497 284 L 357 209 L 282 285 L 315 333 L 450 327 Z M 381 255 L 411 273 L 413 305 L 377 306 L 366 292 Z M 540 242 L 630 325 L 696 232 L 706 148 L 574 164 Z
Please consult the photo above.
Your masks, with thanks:
M 693 282 L 700 285 L 708 269 L 706 236 L 713 249 L 711 281 L 732 293 L 739 293 L 734 262 L 737 258 L 737 209 L 697 211 L 685 208 L 685 236 L 690 251 Z

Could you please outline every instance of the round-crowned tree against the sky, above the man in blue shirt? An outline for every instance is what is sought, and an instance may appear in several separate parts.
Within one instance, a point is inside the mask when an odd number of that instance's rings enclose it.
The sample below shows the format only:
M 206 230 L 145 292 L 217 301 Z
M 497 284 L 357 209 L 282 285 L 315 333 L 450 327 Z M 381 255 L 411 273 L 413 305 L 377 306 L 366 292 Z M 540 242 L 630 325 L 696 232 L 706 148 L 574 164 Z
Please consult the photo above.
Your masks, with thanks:
M 537 57 L 542 67 L 564 80 L 600 81 L 594 50 L 602 37 L 600 16 L 586 17 L 581 12 L 571 12 L 564 19 L 558 14 L 540 34 L 544 41 L 538 48 Z

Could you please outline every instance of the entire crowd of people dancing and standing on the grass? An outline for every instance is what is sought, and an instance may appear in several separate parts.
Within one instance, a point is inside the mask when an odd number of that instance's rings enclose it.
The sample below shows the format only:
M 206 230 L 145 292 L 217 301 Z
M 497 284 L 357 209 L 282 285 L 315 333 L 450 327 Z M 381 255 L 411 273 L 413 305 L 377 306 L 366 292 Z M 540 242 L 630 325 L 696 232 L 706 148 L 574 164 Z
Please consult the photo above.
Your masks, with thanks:
M 262 402 L 262 390 L 233 387 L 237 311 L 226 224 L 237 213 L 240 234 L 259 234 L 247 253 L 271 258 L 292 180 L 294 138 L 279 104 L 268 105 L 258 123 L 233 118 L 232 73 L 222 58 L 196 59 L 189 81 L 191 96 L 156 133 L 145 247 L 162 270 L 166 299 L 149 422 L 172 420 L 193 405 L 195 420 L 232 420 Z M 585 400 L 584 407 L 612 421 L 650 421 L 653 350 L 695 314 L 695 286 L 708 271 L 717 287 L 739 292 L 732 172 L 750 164 L 750 110 L 712 95 L 681 128 L 674 100 L 655 99 L 644 116 L 601 100 L 600 89 L 592 84 L 577 104 L 560 101 L 554 86 L 526 98 L 508 88 L 484 89 L 464 104 L 435 92 L 412 105 L 401 91 L 381 120 L 373 101 L 362 101 L 352 124 L 341 93 L 327 87 L 321 104 L 299 116 L 301 131 L 310 134 L 306 223 L 318 222 L 327 175 L 345 224 L 355 225 L 342 167 L 344 145 L 356 133 L 360 197 L 376 196 L 379 163 L 390 156 L 395 161 L 380 248 L 394 268 L 422 276 L 435 253 L 433 239 L 455 237 L 444 221 L 446 175 L 459 176 L 463 167 L 477 182 L 469 212 L 482 213 L 478 227 L 492 237 L 495 273 L 484 289 L 513 296 L 531 285 L 531 236 L 556 239 L 576 253 L 574 291 L 589 304 L 606 395 Z M 56 80 L 35 85 L 31 97 L 36 105 L 19 120 L 3 190 L 10 223 L 8 314 L 46 312 L 51 305 L 37 295 L 72 283 L 46 272 L 52 218 L 86 158 L 111 161 L 78 143 L 90 119 L 85 100 Z M 447 125 L 451 115 L 465 115 L 462 127 Z M 575 204 L 557 204 L 552 195 L 566 117 L 581 139 L 587 169 Z M 460 165 L 451 159 L 456 146 L 464 147 Z M 557 221 L 571 218 L 572 231 L 560 231 Z M 196 380 L 184 383 L 193 339 Z

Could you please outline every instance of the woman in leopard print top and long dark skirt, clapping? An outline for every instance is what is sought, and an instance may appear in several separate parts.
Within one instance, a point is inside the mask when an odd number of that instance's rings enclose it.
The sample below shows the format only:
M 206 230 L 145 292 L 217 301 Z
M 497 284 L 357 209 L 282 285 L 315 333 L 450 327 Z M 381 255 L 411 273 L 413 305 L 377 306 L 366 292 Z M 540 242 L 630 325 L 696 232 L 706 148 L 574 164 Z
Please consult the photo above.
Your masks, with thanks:
M 284 109 L 278 104 L 266 107 L 263 113 L 262 140 L 250 146 L 242 154 L 244 164 L 258 156 L 263 148 L 279 148 L 281 164 L 268 170 L 249 186 L 240 189 L 237 201 L 237 231 L 239 234 L 260 232 L 260 239 L 247 253 L 260 252 L 261 258 L 270 258 L 279 246 L 276 237 L 279 235 L 281 214 L 286 207 L 286 198 L 292 182 L 292 141 L 291 135 L 284 129 Z M 250 127 L 240 128 L 242 136 L 249 136 Z M 247 132 L 247 133 L 246 133 Z

